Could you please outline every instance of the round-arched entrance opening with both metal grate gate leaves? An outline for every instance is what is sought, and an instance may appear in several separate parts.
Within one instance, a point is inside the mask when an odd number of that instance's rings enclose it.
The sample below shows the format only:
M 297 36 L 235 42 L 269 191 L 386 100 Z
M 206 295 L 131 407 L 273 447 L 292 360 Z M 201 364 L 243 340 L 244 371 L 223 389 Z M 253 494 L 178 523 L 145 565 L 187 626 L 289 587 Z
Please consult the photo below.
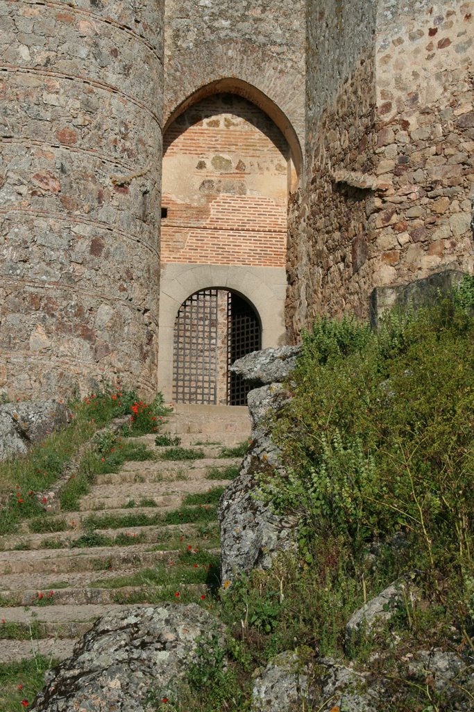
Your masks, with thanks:
M 177 403 L 245 405 L 252 388 L 230 366 L 261 348 L 260 321 L 239 295 L 205 289 L 188 297 L 176 316 L 173 399 Z

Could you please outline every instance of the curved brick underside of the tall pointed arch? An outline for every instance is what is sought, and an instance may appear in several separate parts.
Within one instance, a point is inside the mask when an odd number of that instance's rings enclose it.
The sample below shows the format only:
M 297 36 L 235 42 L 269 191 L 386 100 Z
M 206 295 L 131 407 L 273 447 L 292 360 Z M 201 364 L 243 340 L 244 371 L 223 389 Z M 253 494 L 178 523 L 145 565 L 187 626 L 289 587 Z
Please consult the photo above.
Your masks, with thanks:
M 303 152 L 301 150 L 301 142 L 298 134 L 284 110 L 262 90 L 257 88 L 257 86 L 243 79 L 236 77 L 216 79 L 196 89 L 192 94 L 188 95 L 187 98 L 183 99 L 176 108 L 169 112 L 163 128 L 163 134 L 166 135 L 166 131 L 173 122 L 193 105 L 209 96 L 221 93 L 236 94 L 237 96 L 247 99 L 247 101 L 257 106 L 257 108 L 269 116 L 276 127 L 279 128 L 289 145 L 291 161 L 293 163 L 294 172 L 296 173 L 296 179 L 292 182 L 291 189 L 296 189 L 303 167 Z

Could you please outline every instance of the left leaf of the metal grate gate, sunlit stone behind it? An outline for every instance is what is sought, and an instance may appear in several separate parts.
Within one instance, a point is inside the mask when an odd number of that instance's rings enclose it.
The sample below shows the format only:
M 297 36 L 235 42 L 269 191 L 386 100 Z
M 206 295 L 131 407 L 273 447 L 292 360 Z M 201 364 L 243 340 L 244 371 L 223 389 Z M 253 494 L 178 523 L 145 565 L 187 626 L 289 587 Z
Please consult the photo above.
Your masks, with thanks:
M 217 403 L 217 289 L 191 295 L 176 317 L 173 398 Z

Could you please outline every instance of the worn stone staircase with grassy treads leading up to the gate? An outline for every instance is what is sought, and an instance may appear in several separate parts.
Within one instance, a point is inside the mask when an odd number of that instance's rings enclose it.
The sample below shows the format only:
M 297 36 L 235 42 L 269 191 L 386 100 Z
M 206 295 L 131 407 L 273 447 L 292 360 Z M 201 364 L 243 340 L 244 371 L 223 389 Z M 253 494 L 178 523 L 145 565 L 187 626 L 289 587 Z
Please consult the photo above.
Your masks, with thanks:
M 227 486 L 226 468 L 242 461 L 222 447 L 248 439 L 248 410 L 178 405 L 166 420 L 163 431 L 204 458 L 126 462 L 96 476 L 78 511 L 45 514 L 47 533 L 31 533 L 27 520 L 0 538 L 0 664 L 70 656 L 97 617 L 126 603 L 207 595 L 219 553 L 212 488 Z M 138 440 L 157 456 L 167 449 L 155 435 Z

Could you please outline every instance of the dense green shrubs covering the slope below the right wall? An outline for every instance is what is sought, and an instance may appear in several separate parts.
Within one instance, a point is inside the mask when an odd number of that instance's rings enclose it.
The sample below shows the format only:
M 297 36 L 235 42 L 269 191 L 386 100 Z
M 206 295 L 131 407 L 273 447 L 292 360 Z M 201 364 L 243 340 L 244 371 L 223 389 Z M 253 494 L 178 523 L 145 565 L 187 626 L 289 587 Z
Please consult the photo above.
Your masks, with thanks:
M 472 285 L 387 315 L 378 333 L 318 320 L 293 399 L 273 419 L 287 474 L 259 476 L 259 496 L 296 515 L 306 565 L 336 540 L 340 576 L 355 588 L 364 576 L 368 596 L 367 545 L 401 531 L 404 567 L 426 572 L 426 595 L 464 637 L 474 633 Z

